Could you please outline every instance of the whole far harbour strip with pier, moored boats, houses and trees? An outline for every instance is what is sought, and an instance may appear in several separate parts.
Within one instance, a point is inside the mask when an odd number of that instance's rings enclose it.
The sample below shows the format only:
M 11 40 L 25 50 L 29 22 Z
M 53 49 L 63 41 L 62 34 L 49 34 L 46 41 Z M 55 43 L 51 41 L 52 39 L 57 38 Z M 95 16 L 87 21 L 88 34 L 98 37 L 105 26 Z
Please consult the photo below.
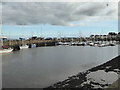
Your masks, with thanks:
M 97 46 L 107 47 L 120 44 L 120 33 L 109 32 L 108 35 L 91 35 L 90 37 L 64 37 L 64 38 L 42 38 L 30 37 L 29 39 L 19 38 L 9 40 L 8 37 L 0 37 L 0 53 L 18 51 L 20 49 L 46 46 Z M 3 49 L 3 50 L 2 50 Z

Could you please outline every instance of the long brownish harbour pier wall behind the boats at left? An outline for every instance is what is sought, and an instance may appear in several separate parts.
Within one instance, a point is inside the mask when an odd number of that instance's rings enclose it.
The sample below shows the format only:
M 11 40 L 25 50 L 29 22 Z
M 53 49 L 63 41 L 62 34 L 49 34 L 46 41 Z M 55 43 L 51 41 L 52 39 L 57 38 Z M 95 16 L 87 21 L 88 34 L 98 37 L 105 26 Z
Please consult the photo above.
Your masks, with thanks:
M 55 40 L 7 40 L 3 41 L 3 46 L 8 46 L 13 48 L 13 51 L 20 50 L 20 46 L 28 45 L 28 48 L 32 48 L 32 45 L 35 47 L 44 47 L 44 46 L 56 46 L 57 41 Z

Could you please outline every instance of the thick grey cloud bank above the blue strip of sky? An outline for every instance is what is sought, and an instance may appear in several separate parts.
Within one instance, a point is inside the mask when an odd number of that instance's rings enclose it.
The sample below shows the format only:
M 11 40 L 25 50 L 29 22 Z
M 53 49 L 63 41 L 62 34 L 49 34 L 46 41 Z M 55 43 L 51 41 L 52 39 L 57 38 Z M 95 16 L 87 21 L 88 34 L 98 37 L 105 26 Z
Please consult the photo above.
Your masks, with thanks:
M 106 2 L 4 2 L 2 3 L 2 24 L 84 26 L 82 22 L 94 21 L 91 17 L 97 17 L 98 21 L 109 16 L 109 19 L 115 19 L 117 17 L 116 4 L 109 3 L 107 6 Z M 80 24 L 71 24 L 74 21 Z

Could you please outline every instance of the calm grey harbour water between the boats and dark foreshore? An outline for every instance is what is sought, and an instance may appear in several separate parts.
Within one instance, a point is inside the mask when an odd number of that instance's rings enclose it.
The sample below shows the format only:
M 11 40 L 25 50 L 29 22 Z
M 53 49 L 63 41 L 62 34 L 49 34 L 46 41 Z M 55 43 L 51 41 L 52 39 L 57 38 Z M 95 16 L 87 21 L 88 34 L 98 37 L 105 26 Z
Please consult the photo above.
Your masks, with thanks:
M 117 55 L 117 46 L 40 47 L 4 54 L 3 88 L 43 88 Z

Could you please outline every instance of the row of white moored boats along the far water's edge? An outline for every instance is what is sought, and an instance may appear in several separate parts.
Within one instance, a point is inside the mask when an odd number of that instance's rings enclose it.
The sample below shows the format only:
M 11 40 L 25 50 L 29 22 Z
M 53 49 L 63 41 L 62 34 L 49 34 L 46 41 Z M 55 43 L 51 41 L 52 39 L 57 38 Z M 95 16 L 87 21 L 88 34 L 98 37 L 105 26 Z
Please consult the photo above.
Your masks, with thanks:
M 27 45 L 15 45 L 15 46 L 2 46 L 0 49 L 0 53 L 9 53 L 12 51 L 18 51 L 20 49 L 28 49 L 28 48 L 35 48 L 35 47 L 46 47 L 46 46 L 94 46 L 94 47 L 107 47 L 107 46 L 116 46 L 119 45 L 116 42 L 58 42 L 58 41 L 49 41 L 48 43 L 42 42 L 37 44 L 27 44 Z

